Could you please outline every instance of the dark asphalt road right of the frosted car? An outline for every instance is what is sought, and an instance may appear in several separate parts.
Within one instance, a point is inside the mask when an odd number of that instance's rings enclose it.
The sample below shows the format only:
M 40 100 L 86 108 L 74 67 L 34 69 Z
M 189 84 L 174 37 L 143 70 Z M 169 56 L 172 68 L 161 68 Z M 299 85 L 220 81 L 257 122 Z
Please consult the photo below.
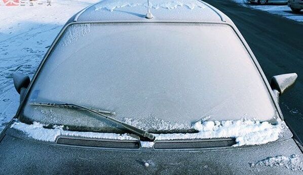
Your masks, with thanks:
M 280 97 L 280 107 L 288 125 L 303 141 L 303 23 L 231 1 L 204 1 L 234 21 L 269 81 L 275 75 L 297 73 L 295 85 Z

